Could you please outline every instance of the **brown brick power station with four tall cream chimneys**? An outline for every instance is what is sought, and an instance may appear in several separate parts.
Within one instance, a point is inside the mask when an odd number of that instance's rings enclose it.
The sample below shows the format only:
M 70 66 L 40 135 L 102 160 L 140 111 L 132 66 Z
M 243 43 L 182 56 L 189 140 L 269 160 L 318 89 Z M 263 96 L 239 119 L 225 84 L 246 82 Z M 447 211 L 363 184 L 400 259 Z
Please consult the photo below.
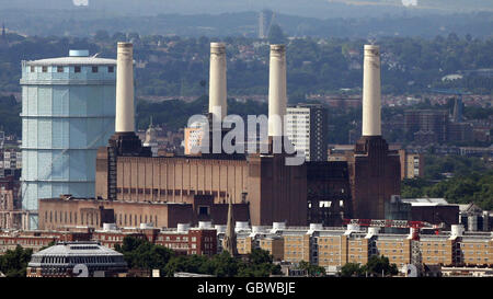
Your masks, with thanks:
M 286 140 L 284 123 L 271 122 L 286 115 L 284 45 L 271 45 L 268 137 L 257 140 L 267 143 L 266 152 L 156 156 L 135 133 L 133 44 L 118 43 L 115 134 L 98 150 L 95 196 L 41 198 L 38 229 L 103 223 L 176 228 L 198 221 L 222 226 L 229 205 L 237 221 L 251 226 L 386 219 L 391 196 L 400 194 L 400 160 L 381 137 L 379 51 L 378 46 L 365 46 L 363 136 L 346 161 L 289 165 L 289 153 L 273 150 L 273 140 Z M 227 115 L 226 61 L 225 44 L 211 43 L 208 119 L 221 122 Z

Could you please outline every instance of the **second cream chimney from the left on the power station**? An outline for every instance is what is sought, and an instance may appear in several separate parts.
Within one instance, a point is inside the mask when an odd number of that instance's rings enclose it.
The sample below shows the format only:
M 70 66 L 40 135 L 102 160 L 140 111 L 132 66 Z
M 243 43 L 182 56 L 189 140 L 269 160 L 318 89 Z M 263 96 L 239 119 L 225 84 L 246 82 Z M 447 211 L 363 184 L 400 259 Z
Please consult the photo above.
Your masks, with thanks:
M 214 107 L 221 107 L 221 119 L 227 115 L 226 101 L 226 45 L 210 43 L 210 71 L 209 71 L 209 113 L 216 114 Z

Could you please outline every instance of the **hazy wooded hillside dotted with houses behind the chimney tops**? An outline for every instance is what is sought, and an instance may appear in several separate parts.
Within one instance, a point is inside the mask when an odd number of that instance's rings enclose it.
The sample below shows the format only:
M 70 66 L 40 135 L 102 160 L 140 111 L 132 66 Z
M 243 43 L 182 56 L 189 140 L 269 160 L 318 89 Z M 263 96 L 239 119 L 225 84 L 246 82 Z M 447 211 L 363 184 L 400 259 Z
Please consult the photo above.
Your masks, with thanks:
M 277 31 L 277 33 L 276 33 Z M 273 42 L 287 43 L 288 94 L 360 93 L 363 46 L 367 39 L 287 39 L 279 27 Z M 116 42 L 135 44 L 136 92 L 139 95 L 199 96 L 207 92 L 209 43 L 218 38 L 108 34 L 99 31 L 90 38 L 22 37 L 8 35 L 9 46 L 0 49 L 0 91 L 20 91 L 21 60 L 67 56 L 69 49 L 87 48 L 100 57 L 116 57 Z M 230 95 L 266 94 L 268 88 L 268 43 L 255 38 L 225 37 L 228 44 L 228 92 Z M 493 68 L 493 38 L 471 35 L 381 37 L 382 91 L 387 94 L 422 93 L 431 87 L 466 89 L 491 94 L 493 78 L 465 74 L 443 82 L 444 76 Z

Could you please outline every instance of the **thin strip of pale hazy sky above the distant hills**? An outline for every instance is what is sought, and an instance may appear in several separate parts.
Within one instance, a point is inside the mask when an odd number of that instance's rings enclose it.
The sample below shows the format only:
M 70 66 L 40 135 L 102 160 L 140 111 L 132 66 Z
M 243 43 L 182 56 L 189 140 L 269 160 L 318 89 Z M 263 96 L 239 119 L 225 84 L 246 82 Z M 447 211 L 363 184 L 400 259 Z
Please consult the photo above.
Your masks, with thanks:
M 87 5 L 87 7 L 85 7 Z M 493 0 L 0 0 L 0 10 L 22 9 L 95 9 L 115 14 L 225 13 L 274 11 L 313 16 L 362 16 L 385 13 L 493 11 Z

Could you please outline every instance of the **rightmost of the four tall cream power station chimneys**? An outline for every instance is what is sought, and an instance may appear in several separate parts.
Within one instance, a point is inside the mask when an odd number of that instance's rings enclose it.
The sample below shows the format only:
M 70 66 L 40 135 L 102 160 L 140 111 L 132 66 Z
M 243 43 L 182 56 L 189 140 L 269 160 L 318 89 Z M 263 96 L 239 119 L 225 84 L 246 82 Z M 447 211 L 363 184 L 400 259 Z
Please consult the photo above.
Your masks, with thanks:
M 365 45 L 363 74 L 363 136 L 381 136 L 380 47 Z

